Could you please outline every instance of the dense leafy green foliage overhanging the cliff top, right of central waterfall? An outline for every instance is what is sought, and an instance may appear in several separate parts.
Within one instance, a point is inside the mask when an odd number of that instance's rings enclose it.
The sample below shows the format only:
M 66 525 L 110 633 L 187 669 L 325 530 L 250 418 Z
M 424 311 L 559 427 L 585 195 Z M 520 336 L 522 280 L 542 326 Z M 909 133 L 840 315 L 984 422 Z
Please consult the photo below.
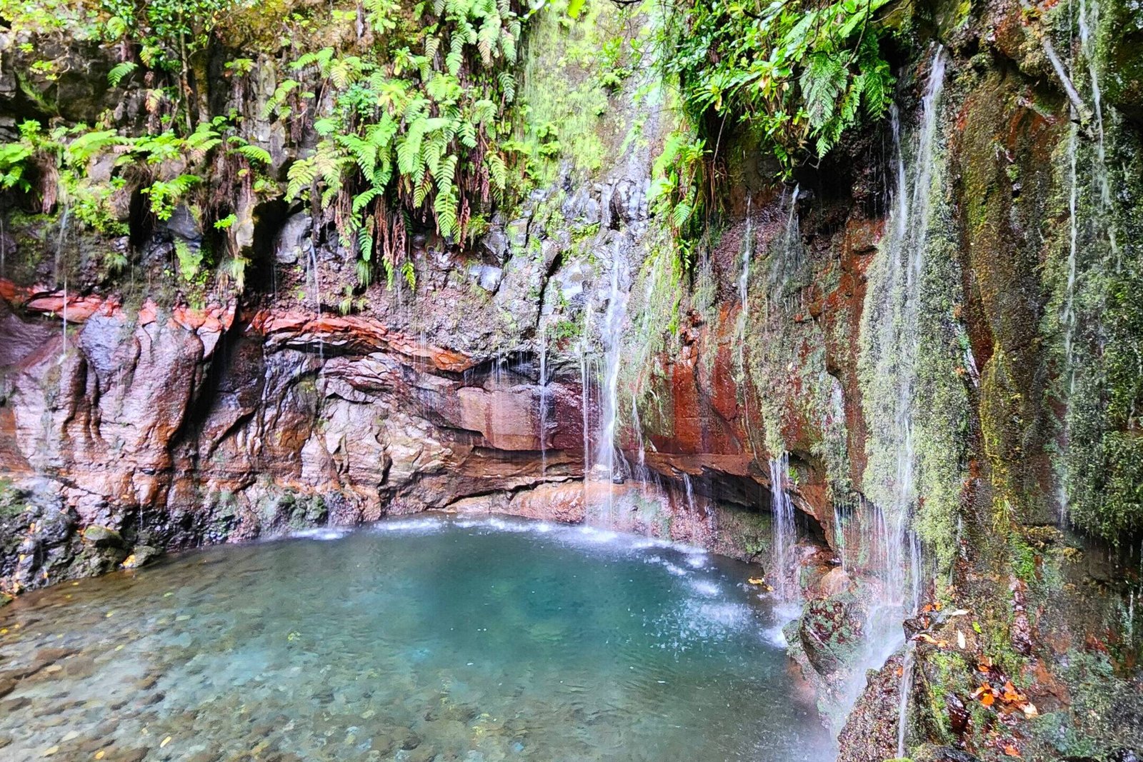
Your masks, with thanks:
M 789 175 L 888 107 L 893 77 L 874 16 L 886 2 L 677 0 L 660 65 L 708 145 L 718 145 L 727 121 L 740 122 Z

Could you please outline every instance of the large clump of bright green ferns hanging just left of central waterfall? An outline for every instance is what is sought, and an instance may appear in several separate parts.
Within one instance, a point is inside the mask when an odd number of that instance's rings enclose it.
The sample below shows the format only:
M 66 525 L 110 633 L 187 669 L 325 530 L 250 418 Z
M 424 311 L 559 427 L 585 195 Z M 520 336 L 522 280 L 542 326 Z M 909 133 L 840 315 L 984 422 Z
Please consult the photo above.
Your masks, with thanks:
M 379 255 L 392 284 L 411 220 L 431 219 L 458 241 L 475 212 L 511 199 L 510 168 L 521 159 L 506 137 L 522 18 L 504 0 L 421 3 L 415 25 L 390 0 L 366 11 L 384 34 L 365 55 L 325 48 L 293 64 L 299 79 L 330 88 L 334 109 L 314 123 L 317 147 L 290 166 L 286 198 L 336 206 L 342 242 L 363 263 L 361 280 Z M 279 85 L 267 111 L 282 114 L 298 87 Z

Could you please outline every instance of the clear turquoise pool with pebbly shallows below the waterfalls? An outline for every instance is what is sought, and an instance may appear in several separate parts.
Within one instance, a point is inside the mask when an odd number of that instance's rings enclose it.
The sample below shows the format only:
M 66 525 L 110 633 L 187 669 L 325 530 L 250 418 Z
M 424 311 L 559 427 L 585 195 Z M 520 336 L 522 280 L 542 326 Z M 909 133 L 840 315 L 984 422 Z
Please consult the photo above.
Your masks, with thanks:
M 183 554 L 0 610 L 0 756 L 832 759 L 749 575 L 506 520 Z

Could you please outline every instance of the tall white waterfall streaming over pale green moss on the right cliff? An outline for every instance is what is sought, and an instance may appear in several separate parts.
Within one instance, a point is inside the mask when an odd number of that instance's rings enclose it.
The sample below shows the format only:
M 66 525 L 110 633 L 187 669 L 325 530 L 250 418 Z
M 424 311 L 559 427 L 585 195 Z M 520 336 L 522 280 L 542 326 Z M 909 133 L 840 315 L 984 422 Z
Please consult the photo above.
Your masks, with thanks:
M 864 688 L 864 669 L 885 664 L 904 642 L 902 619 L 913 613 L 922 593 L 924 559 L 912 530 L 918 504 L 917 414 L 921 362 L 921 310 L 928 274 L 928 238 L 937 222 L 935 207 L 942 176 L 938 151 L 940 101 L 944 87 L 945 51 L 932 58 L 921 102 L 920 123 L 908 143 L 897 110 L 890 109 L 896 184 L 889 219 L 874 265 L 870 270 L 863 340 L 864 372 L 870 379 L 866 414 L 871 422 L 866 495 L 861 506 L 863 545 L 876 580 L 868 599 L 861 664 L 846 696 L 856 700 Z M 928 286 L 930 287 L 930 286 Z M 856 556 L 855 556 L 856 558 Z M 858 561 L 861 566 L 865 562 Z M 911 666 L 912 643 L 905 643 L 905 666 Z M 908 730 L 910 669 L 903 672 L 898 705 L 898 751 L 903 755 Z

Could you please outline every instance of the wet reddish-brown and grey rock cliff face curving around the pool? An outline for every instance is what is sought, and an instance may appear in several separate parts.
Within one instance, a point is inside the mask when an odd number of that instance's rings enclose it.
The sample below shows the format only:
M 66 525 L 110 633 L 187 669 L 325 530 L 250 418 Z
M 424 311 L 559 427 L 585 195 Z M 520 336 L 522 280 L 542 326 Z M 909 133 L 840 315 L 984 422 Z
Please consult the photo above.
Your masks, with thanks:
M 573 61 L 522 89 L 606 111 L 567 117 L 553 177 L 479 240 L 410 233 L 415 282 L 358 286 L 321 210 L 280 193 L 239 204 L 242 287 L 176 276 L 211 235 L 193 204 L 159 222 L 119 189 L 127 230 L 106 235 L 0 194 L 0 587 L 425 510 L 593 521 L 796 578 L 788 640 L 844 760 L 1133 759 L 1138 10 L 1104 8 L 1089 48 L 1048 7 L 919 7 L 900 123 L 778 187 L 729 130 L 745 158 L 687 272 L 647 202 L 673 117 L 648 72 L 601 85 L 569 53 L 638 38 L 593 13 L 594 33 L 542 22 L 526 61 Z M 0 27 L 0 130 L 104 109 L 137 129 L 143 85 L 117 101 L 105 48 L 48 38 L 38 55 L 67 73 L 38 82 L 30 40 Z M 264 115 L 285 72 L 257 55 L 202 98 L 246 115 L 282 183 L 313 135 Z M 772 547 L 782 490 L 790 568 Z M 887 529 L 895 495 L 914 531 Z M 922 560 L 898 558 L 914 535 Z M 916 611 L 873 603 L 906 577 Z

